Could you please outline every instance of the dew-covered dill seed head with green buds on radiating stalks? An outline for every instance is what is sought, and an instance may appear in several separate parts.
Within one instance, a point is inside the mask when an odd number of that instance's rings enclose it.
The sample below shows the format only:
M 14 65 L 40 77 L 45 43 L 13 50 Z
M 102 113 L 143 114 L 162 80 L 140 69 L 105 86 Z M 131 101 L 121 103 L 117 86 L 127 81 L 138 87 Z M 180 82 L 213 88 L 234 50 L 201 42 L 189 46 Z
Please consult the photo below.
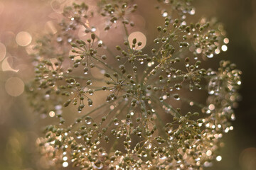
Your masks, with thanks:
M 235 64 L 208 67 L 227 48 L 222 27 L 188 24 L 191 1 L 159 0 L 150 12 L 162 24 L 146 42 L 132 34 L 141 3 L 94 3 L 66 7 L 58 33 L 38 40 L 28 93 L 35 112 L 54 120 L 37 140 L 43 156 L 80 169 L 203 169 L 220 160 L 241 84 Z

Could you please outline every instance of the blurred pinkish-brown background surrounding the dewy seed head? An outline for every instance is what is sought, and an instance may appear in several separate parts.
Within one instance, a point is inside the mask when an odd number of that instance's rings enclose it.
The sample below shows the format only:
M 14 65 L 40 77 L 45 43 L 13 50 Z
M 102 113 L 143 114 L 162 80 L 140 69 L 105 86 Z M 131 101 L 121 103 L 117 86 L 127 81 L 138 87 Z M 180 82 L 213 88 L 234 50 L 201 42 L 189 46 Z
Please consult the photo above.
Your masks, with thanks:
M 36 39 L 43 33 L 56 31 L 54 22 L 61 18 L 62 7 L 71 2 L 0 0 L 0 169 L 48 168 L 43 165 L 35 145 L 36 138 L 42 135 L 41 123 L 38 123 L 41 119 L 29 107 L 24 86 L 33 77 L 29 54 L 33 52 Z M 155 16 L 145 14 L 152 4 L 144 5 L 144 10 L 139 13 L 146 21 L 142 25 L 149 35 L 152 28 L 147 21 Z M 255 170 L 256 1 L 195 0 L 194 6 L 195 18 L 218 18 L 230 40 L 228 51 L 211 62 L 213 67 L 218 66 L 221 57 L 237 64 L 243 73 L 240 89 L 242 100 L 235 109 L 234 130 L 223 137 L 225 147 L 220 152 L 222 161 L 215 162 L 208 169 Z

